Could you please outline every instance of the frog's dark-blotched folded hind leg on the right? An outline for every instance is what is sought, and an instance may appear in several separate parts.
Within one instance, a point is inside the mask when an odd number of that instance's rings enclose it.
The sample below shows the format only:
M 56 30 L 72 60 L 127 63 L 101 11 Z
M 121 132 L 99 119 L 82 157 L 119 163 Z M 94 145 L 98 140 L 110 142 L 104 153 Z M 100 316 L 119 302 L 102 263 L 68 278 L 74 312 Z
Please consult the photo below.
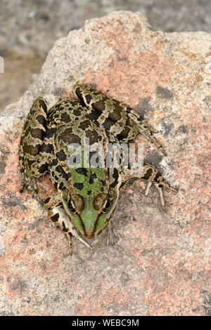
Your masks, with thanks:
M 97 119 L 107 131 L 117 137 L 117 140 L 127 142 L 141 133 L 166 155 L 162 145 L 153 136 L 158 131 L 144 121 L 136 110 L 89 86 L 76 84 L 73 86 L 73 93 L 89 108 L 87 117 Z

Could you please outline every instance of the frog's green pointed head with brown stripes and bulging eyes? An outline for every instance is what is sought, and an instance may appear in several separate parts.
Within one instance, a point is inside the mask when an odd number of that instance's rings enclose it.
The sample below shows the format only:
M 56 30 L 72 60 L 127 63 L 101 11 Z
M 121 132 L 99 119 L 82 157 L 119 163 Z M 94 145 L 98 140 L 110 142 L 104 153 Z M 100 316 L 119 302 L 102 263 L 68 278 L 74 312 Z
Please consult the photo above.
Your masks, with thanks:
M 80 235 L 93 238 L 108 225 L 116 208 L 117 185 L 110 187 L 106 169 L 72 170 L 63 206 Z

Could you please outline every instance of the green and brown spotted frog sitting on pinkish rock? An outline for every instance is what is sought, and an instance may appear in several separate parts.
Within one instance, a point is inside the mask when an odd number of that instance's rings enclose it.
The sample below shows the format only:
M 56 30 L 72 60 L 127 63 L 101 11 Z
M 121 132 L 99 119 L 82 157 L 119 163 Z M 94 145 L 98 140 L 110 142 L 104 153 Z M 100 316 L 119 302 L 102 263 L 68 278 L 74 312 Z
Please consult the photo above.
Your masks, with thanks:
M 128 144 L 140 133 L 162 154 L 167 154 L 155 138 L 158 131 L 132 107 L 85 84 L 75 84 L 72 91 L 75 99 L 60 97 L 49 110 L 44 98 L 34 100 L 18 152 L 20 191 L 26 187 L 44 205 L 53 223 L 67 237 L 70 255 L 71 237 L 93 249 L 89 239 L 110 227 L 120 189 L 129 179 L 145 180 L 146 196 L 151 185 L 157 187 L 162 206 L 165 205 L 163 188 L 177 192 L 158 169 L 148 163 L 143 162 L 141 172 L 135 174 L 130 166 L 121 163 L 120 166 L 106 166 L 103 157 L 101 166 L 87 166 L 85 163 L 90 159 L 84 151 L 85 161 L 70 164 L 70 159 L 77 158 L 78 146 L 86 140 L 89 147 L 99 144 L 106 153 L 108 145 Z M 37 179 L 46 173 L 56 192 L 42 200 Z

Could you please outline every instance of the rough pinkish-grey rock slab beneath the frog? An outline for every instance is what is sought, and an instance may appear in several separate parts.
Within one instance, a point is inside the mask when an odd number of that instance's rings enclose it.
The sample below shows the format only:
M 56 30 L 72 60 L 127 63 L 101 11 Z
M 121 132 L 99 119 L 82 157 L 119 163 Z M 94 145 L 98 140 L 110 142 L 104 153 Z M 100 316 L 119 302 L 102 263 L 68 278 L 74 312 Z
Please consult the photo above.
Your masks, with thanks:
M 202 304 L 211 291 L 210 44 L 205 32 L 153 32 L 129 12 L 89 20 L 56 41 L 37 80 L 0 118 L 1 315 L 209 312 Z M 117 244 L 89 251 L 73 239 L 71 258 L 44 209 L 20 194 L 17 151 L 34 98 L 51 106 L 76 81 L 136 107 L 159 129 L 168 155 L 146 143 L 146 159 L 179 193 L 166 191 L 162 207 L 155 189 L 145 197 L 145 183 L 127 183 L 115 213 Z M 51 191 L 47 178 L 42 183 Z

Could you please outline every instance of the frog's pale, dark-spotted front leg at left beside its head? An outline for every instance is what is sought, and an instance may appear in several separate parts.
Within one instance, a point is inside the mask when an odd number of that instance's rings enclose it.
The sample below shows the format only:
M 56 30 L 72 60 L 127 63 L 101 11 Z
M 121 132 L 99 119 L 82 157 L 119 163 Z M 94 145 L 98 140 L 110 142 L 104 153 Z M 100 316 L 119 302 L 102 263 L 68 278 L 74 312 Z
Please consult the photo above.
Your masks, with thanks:
M 56 192 L 51 197 L 48 197 L 44 202 L 44 207 L 46 211 L 48 211 L 49 216 L 53 223 L 55 223 L 60 230 L 62 230 L 65 236 L 68 239 L 68 246 L 70 255 L 72 256 L 72 246 L 71 246 L 71 236 L 76 237 L 80 242 L 84 245 L 88 246 L 89 249 L 92 247 L 84 240 L 82 237 L 79 236 L 75 228 L 73 227 L 68 215 L 65 213 L 63 209 L 63 201 L 60 192 Z

